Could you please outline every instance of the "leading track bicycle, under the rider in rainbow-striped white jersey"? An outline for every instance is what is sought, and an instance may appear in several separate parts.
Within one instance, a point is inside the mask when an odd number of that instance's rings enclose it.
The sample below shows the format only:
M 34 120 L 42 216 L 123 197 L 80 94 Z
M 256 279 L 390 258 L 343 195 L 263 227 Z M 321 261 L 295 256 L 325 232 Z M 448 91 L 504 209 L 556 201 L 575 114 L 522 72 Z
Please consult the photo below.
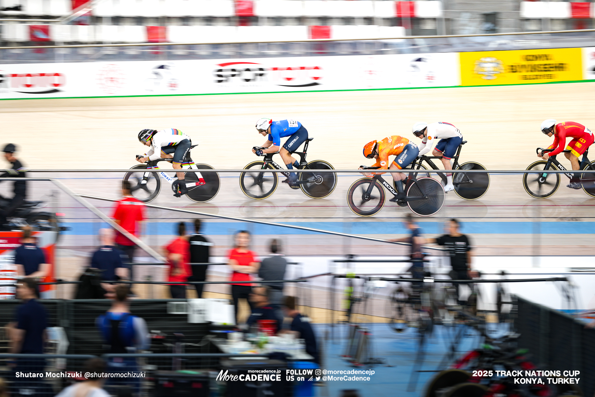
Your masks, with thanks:
M 194 148 L 198 145 L 192 145 L 190 148 Z M 139 156 L 137 155 L 137 158 Z M 138 164 L 134 165 L 134 167 L 130 168 L 131 171 L 124 175 L 123 180 L 127 180 L 130 182 L 130 194 L 139 199 L 142 202 L 151 202 L 153 201 L 157 195 L 159 194 L 159 190 L 161 190 L 161 179 L 166 180 L 168 183 L 173 184 L 176 177 L 170 177 L 166 171 L 161 171 L 158 173 L 155 172 L 142 172 L 141 170 L 159 170 L 160 168 L 157 166 L 157 163 L 160 161 L 167 161 L 172 162 L 173 159 L 171 158 L 158 158 L 157 160 L 147 161 L 145 164 Z M 187 165 L 183 165 L 182 169 L 186 170 L 213 170 L 214 168 L 208 164 L 195 164 L 192 162 L 190 158 L 190 154 L 186 155 L 186 159 L 184 162 L 189 162 Z M 176 170 L 174 170 L 176 171 Z M 167 172 L 170 172 L 169 170 Z M 199 178 L 203 178 L 205 180 L 205 185 L 201 186 L 188 186 L 190 183 L 197 183 Z M 210 199 L 214 198 L 219 192 L 219 188 L 221 187 L 221 182 L 219 179 L 219 175 L 215 172 L 204 172 L 204 173 L 195 173 L 195 172 L 187 172 L 185 173 L 186 186 L 188 189 L 188 196 L 189 199 L 195 202 L 207 202 Z M 173 190 L 173 185 L 172 185 Z

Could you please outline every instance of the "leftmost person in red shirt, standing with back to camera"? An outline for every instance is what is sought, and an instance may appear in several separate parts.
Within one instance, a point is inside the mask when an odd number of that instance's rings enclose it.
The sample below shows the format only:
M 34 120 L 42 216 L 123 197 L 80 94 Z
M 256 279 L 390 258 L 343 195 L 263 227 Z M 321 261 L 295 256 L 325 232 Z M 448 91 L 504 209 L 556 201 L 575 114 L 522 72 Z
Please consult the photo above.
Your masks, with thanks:
M 122 195 L 124 197 L 117 202 L 112 218 L 114 218 L 114 222 L 123 227 L 124 230 L 131 235 L 138 237 L 140 235 L 142 221 L 145 220 L 145 203 L 131 195 L 130 182 L 127 180 L 122 182 Z M 117 232 L 115 243 L 118 249 L 126 254 L 128 257 L 127 260 L 132 263 L 134 260 L 134 249 L 136 249 L 136 244 L 120 232 Z M 132 279 L 132 274 L 130 274 L 130 276 L 130 279 Z

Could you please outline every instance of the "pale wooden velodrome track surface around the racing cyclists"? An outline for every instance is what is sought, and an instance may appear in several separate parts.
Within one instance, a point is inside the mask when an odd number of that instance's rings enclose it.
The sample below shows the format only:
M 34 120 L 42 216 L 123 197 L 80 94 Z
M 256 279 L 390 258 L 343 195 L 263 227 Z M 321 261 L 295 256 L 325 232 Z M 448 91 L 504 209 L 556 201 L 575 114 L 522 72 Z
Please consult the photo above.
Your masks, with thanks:
M 0 101 L 2 141 L 20 147 L 20 157 L 35 168 L 129 168 L 134 155 L 143 152 L 137 132 L 143 128 L 173 127 L 190 135 L 199 146 L 193 160 L 215 168 L 243 168 L 256 160 L 250 149 L 264 138 L 254 129 L 260 117 L 295 118 L 315 139 L 308 160 L 326 160 L 337 169 L 355 169 L 371 164 L 362 157 L 362 146 L 387 135 L 411 134 L 415 121 L 448 121 L 457 126 L 468 143 L 461 162 L 478 161 L 488 170 L 524 170 L 538 160 L 537 146 L 552 142 L 540 133 L 541 121 L 578 121 L 595 127 L 595 85 L 566 83 L 496 87 L 371 90 L 347 92 L 266 93 L 243 95 L 156 96 L 138 98 L 35 99 Z M 591 155 L 595 160 L 595 152 Z M 569 162 L 562 158 L 562 163 Z M 280 162 L 280 158 L 278 160 Z M 44 174 L 43 176 L 48 176 Z M 108 175 L 109 176 L 109 175 Z M 111 174 L 112 177 L 117 177 Z M 119 175 L 118 175 L 119 176 Z M 357 176 L 339 177 L 337 189 L 326 199 L 308 199 L 300 190 L 280 183 L 265 201 L 244 196 L 237 174 L 226 174 L 218 195 L 206 204 L 175 199 L 167 187 L 154 204 L 190 206 L 197 210 L 272 221 L 369 221 L 356 217 L 346 206 L 345 193 Z M 359 174 L 358 174 L 359 176 Z M 113 179 L 99 174 L 68 174 L 64 182 L 80 193 L 118 197 Z M 587 220 L 594 212 L 595 199 L 583 190 L 566 188 L 565 177 L 558 192 L 547 200 L 527 195 L 521 175 L 492 175 L 487 194 L 477 201 L 447 195 L 444 208 L 434 220 L 458 217 L 468 221 Z M 6 187 L 2 187 L 6 189 Z M 106 204 L 107 205 L 107 204 Z M 538 210 L 538 212 L 536 212 Z M 375 220 L 396 221 L 407 208 L 385 205 Z M 379 227 L 372 234 L 389 235 Z M 482 233 L 486 240 L 481 240 Z M 506 234 L 509 233 L 509 234 Z M 509 247 L 535 245 L 529 235 L 514 230 L 493 240 L 490 230 L 478 231 L 478 245 Z M 543 233 L 543 231 L 542 231 Z M 542 235 L 554 236 L 555 232 Z M 491 236 L 491 237 L 490 237 Z M 563 246 L 565 238 L 556 237 Z M 583 237 L 581 237 L 583 238 Z M 586 238 L 586 237 L 585 237 Z M 572 245 L 590 246 L 572 237 Z M 540 244 L 541 245 L 541 244 Z M 484 254 L 495 254 L 487 251 Z M 595 252 L 594 252 L 595 253 Z

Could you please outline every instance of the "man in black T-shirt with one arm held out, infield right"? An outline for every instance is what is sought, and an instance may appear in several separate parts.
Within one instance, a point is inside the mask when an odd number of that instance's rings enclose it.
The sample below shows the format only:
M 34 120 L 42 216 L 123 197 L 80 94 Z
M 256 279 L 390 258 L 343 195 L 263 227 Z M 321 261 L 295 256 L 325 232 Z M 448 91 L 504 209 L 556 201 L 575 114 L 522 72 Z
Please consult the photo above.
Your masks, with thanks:
M 450 256 L 450 266 L 452 270 L 449 276 L 453 280 L 470 280 L 472 277 L 477 277 L 476 271 L 471 268 L 471 242 L 469 237 L 459 231 L 459 221 L 451 219 L 447 224 L 447 235 L 442 235 L 436 239 L 428 239 L 428 243 L 436 243 L 448 249 Z M 471 287 L 471 285 L 469 285 Z M 459 284 L 456 285 L 457 293 L 459 292 Z

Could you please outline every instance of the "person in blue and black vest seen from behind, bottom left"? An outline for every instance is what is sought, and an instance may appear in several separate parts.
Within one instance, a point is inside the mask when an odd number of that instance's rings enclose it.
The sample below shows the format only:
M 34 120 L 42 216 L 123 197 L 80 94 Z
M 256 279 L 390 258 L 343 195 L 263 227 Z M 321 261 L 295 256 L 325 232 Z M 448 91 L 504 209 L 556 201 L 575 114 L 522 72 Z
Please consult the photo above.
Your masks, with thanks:
M 145 320 L 130 314 L 129 293 L 130 289 L 125 285 L 115 287 L 111 308 L 96 320 L 99 332 L 109 346 L 108 353 L 134 353 L 149 348 Z M 112 357 L 108 360 L 108 368 L 111 373 L 137 373 L 136 358 Z M 108 384 L 132 386 L 138 392 L 140 380 L 138 377 L 114 377 Z

